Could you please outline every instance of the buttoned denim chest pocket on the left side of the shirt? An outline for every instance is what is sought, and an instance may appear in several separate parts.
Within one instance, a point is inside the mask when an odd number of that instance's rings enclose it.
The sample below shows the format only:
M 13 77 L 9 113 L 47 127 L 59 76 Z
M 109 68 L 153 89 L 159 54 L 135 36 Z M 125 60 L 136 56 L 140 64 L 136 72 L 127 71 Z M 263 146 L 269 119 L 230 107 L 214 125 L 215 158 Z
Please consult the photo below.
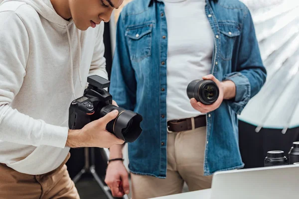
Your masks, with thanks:
M 151 32 L 150 23 L 130 26 L 126 29 L 131 61 L 140 62 L 151 55 Z

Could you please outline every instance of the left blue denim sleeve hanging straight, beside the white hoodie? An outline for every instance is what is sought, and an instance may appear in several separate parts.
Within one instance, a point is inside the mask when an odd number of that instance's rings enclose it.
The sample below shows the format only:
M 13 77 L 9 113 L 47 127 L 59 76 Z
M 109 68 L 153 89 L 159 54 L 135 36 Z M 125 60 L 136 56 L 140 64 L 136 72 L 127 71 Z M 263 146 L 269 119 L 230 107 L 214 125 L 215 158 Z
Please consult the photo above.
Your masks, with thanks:
M 136 78 L 132 68 L 125 25 L 122 13 L 119 16 L 116 31 L 116 49 L 111 71 L 110 93 L 122 108 L 134 110 L 136 103 Z

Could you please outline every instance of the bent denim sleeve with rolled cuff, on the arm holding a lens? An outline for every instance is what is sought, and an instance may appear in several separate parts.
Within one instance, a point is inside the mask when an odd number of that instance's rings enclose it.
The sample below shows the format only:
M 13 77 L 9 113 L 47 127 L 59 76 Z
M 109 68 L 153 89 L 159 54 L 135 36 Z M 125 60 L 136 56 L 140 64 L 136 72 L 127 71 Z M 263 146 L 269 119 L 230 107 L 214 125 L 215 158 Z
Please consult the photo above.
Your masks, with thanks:
M 237 114 L 241 114 L 247 102 L 261 90 L 266 81 L 266 69 L 249 10 L 244 16 L 242 27 L 237 67 L 223 78 L 223 81 L 231 80 L 236 85 L 235 99 L 229 101 L 229 105 Z

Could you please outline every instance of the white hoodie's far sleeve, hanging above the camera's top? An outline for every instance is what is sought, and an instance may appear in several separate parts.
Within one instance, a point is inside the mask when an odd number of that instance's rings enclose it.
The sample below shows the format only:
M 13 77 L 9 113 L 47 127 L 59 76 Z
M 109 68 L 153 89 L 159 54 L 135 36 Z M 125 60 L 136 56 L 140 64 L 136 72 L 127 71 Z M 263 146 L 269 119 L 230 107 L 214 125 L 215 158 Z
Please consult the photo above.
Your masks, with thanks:
M 105 46 L 104 46 L 104 22 L 100 23 L 99 31 L 97 35 L 97 42 L 92 57 L 92 62 L 89 70 L 90 75 L 98 75 L 108 80 L 108 73 L 106 71 L 106 59 L 104 57 Z

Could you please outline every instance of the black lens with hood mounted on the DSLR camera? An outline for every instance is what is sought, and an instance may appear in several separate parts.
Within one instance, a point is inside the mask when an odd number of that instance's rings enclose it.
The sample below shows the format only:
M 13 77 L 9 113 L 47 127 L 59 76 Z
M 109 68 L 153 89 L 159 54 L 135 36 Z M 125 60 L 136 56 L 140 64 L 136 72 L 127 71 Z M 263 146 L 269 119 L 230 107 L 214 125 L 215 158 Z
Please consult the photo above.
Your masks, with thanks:
M 101 109 L 101 117 L 105 116 L 114 109 L 117 109 L 119 114 L 115 119 L 107 124 L 107 130 L 114 133 L 119 139 L 126 142 L 134 142 L 142 132 L 140 123 L 143 120 L 143 117 L 136 112 L 126 110 L 112 104 L 106 105 Z

